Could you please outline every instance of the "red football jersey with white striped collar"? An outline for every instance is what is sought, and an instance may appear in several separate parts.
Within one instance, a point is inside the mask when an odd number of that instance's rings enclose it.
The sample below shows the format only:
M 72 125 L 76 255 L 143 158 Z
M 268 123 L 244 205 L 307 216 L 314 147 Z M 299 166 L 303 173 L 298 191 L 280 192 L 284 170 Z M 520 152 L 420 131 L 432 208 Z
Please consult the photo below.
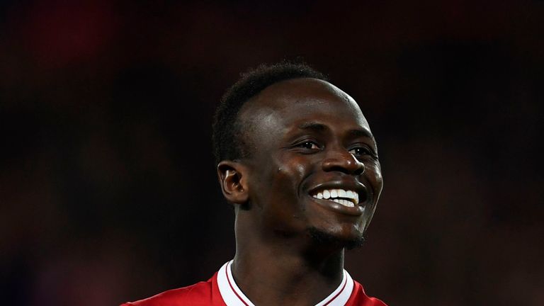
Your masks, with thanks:
M 230 265 L 225 263 L 206 282 L 168 290 L 145 300 L 127 302 L 121 306 L 255 306 L 238 288 L 232 278 Z M 387 306 L 375 297 L 368 297 L 363 286 L 351 279 L 344 270 L 338 288 L 315 306 Z

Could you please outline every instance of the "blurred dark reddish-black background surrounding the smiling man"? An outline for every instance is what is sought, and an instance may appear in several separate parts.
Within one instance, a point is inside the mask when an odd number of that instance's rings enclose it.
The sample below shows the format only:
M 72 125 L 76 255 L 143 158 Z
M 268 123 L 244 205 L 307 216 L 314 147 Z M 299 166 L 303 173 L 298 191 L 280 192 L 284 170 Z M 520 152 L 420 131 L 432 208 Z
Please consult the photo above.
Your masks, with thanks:
M 362 3 L 364 2 L 364 3 Z M 385 179 L 348 271 L 389 305 L 544 305 L 544 1 L 2 1 L 2 305 L 118 305 L 234 255 L 210 147 L 239 72 L 302 57 Z

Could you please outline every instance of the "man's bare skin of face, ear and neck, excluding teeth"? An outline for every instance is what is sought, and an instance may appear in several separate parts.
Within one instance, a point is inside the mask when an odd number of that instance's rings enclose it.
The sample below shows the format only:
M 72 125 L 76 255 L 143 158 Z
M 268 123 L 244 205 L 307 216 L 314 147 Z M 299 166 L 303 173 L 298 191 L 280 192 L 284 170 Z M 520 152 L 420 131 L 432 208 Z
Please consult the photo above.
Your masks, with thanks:
M 317 79 L 268 86 L 239 120 L 249 157 L 217 167 L 236 212 L 234 279 L 255 305 L 315 305 L 341 282 L 345 246 L 362 237 L 382 190 L 370 127 L 353 98 Z M 358 203 L 316 198 L 335 188 Z

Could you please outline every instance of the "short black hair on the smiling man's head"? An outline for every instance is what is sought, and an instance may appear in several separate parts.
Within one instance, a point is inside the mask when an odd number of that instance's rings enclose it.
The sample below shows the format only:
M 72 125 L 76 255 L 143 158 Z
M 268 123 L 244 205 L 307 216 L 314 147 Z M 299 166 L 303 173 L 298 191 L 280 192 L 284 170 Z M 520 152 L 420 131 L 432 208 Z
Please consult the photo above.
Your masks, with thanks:
M 213 118 L 212 145 L 216 165 L 222 160 L 247 157 L 248 152 L 239 137 L 244 127 L 238 120 L 238 113 L 244 103 L 272 84 L 300 78 L 328 81 L 324 74 L 305 62 L 261 64 L 241 74 L 240 79 L 222 96 Z

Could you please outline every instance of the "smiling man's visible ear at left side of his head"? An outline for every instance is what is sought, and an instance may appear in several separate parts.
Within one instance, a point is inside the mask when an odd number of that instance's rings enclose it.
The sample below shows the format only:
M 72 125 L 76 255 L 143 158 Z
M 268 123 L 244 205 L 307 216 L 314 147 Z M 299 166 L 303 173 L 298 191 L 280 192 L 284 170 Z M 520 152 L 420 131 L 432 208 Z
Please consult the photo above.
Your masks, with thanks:
M 249 199 L 247 167 L 239 162 L 222 161 L 217 165 L 217 179 L 229 203 L 244 205 Z

